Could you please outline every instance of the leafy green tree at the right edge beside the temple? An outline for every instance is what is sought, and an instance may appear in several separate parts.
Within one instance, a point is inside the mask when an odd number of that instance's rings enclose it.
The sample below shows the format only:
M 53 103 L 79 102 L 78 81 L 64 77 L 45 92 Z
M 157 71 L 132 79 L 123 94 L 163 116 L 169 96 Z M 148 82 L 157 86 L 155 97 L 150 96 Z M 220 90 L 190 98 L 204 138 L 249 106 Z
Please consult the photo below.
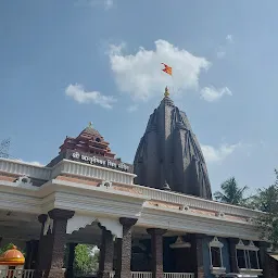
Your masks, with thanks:
M 278 248 L 278 172 L 275 170 L 276 181 L 265 189 L 258 189 L 257 194 L 251 198 L 250 207 L 265 212 L 257 219 L 262 237 L 267 238 L 273 249 Z

